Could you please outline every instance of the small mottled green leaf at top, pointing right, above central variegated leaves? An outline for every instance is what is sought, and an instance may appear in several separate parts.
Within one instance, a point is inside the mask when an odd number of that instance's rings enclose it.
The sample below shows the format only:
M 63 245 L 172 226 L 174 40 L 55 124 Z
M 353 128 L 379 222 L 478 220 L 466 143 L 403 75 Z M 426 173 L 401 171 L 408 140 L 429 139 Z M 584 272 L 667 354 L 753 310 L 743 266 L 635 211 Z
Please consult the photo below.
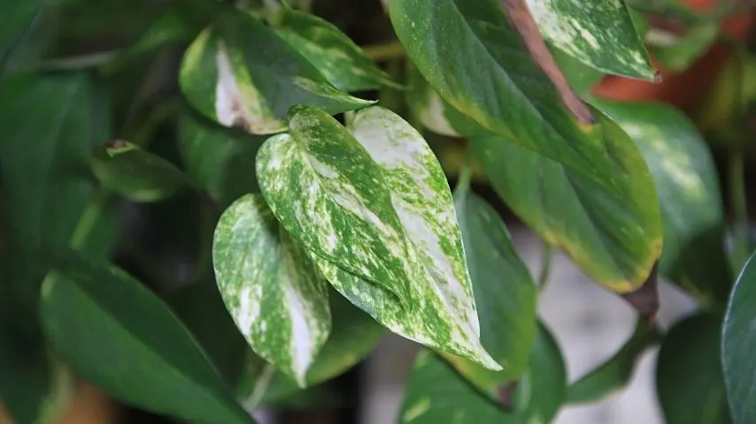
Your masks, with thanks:
M 327 20 L 284 7 L 275 32 L 342 91 L 397 87 L 357 44 Z

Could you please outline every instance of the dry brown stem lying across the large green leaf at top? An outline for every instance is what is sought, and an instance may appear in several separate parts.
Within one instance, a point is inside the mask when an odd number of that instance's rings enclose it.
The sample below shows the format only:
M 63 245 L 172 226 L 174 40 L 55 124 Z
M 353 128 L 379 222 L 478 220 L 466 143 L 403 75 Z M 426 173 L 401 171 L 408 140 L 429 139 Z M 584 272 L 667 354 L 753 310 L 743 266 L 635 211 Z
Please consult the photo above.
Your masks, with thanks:
M 551 79 L 554 87 L 557 88 L 559 97 L 561 97 L 562 102 L 567 106 L 567 110 L 572 113 L 578 122 L 585 125 L 593 124 L 594 118 L 590 112 L 590 108 L 569 87 L 569 83 L 567 83 L 564 74 L 559 70 L 559 65 L 554 60 L 552 52 L 546 47 L 546 43 L 536 26 L 536 20 L 530 14 L 525 0 L 501 0 L 501 5 L 506 12 L 507 18 L 512 22 L 514 29 L 520 34 L 522 42 L 525 44 L 525 48 L 528 49 L 530 56 L 533 57 L 536 64 L 546 74 L 546 77 Z

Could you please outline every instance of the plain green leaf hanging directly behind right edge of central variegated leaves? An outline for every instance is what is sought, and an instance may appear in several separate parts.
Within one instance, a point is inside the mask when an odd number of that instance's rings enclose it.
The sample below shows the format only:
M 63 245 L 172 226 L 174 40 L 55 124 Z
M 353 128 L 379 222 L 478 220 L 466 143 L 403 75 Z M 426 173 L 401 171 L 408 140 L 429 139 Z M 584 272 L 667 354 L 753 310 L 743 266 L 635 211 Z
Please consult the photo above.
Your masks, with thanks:
M 528 367 L 536 339 L 536 285 L 494 208 L 464 185 L 455 190 L 454 204 L 481 322 L 481 342 L 504 368 L 490 373 L 497 375 L 496 389 L 520 377 Z

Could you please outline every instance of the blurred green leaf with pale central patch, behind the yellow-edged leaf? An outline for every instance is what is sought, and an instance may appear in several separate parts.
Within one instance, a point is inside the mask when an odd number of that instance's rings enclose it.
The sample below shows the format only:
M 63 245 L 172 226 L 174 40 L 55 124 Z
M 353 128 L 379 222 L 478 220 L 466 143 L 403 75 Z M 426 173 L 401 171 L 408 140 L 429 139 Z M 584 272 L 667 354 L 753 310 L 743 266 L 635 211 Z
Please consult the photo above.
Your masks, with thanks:
M 664 224 L 661 275 L 705 306 L 723 305 L 732 277 L 718 174 L 706 140 L 670 106 L 598 104 L 635 140 L 656 183 Z

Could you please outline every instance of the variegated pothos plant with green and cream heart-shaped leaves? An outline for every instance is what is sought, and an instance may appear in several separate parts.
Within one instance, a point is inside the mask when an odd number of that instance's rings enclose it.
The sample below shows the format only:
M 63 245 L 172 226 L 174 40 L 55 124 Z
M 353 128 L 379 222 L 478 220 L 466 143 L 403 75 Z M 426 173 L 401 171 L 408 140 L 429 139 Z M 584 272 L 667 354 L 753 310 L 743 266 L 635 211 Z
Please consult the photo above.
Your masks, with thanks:
M 364 7 L 377 29 L 359 47 L 318 4 L 335 21 Z M 733 47 L 737 88 L 711 112 L 733 225 L 683 113 L 590 95 L 606 74 L 659 79 L 649 51 L 686 68 L 739 11 L 377 6 L 3 3 L 0 394 L 16 422 L 57 417 L 77 375 L 153 413 L 249 423 L 386 331 L 424 346 L 399 422 L 549 422 L 620 389 L 658 344 L 667 422 L 756 420 L 756 265 L 739 271 L 747 49 Z M 636 308 L 627 344 L 576 382 L 536 314 L 547 272 L 534 282 L 472 181 L 543 240 L 544 271 L 559 248 Z M 178 228 L 161 238 L 190 234 L 181 272 L 136 236 L 150 208 Z M 653 320 L 660 276 L 700 306 L 668 331 Z

